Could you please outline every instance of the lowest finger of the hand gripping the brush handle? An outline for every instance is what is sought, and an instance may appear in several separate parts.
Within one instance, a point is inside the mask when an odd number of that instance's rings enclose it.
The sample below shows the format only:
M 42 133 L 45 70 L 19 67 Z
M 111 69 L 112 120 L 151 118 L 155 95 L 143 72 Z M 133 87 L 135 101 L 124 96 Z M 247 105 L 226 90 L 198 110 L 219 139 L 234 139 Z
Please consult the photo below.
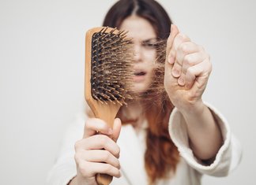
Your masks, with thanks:
M 121 176 L 119 168 L 115 168 L 107 163 L 83 161 L 79 164 L 79 170 L 82 176 L 85 177 L 96 176 L 97 173 L 108 174 L 117 178 Z

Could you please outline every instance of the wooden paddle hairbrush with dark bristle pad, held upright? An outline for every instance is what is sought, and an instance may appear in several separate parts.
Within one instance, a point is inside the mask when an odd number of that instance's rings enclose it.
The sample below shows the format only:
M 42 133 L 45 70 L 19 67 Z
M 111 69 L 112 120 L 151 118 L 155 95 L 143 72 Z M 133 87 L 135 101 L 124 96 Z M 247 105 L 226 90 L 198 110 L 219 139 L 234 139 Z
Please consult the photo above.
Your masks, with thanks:
M 132 46 L 127 31 L 92 28 L 85 39 L 85 100 L 94 116 L 113 128 L 113 122 L 126 99 L 130 99 Z M 100 185 L 111 183 L 112 176 L 97 174 Z

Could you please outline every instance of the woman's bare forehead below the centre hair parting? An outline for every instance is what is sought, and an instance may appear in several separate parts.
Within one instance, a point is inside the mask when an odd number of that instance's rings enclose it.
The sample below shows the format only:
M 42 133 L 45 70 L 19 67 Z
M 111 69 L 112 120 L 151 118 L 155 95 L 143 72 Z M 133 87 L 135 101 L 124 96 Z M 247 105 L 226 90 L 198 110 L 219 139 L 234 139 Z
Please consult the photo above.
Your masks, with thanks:
M 120 29 L 129 31 L 128 37 L 130 38 L 141 40 L 156 38 L 156 32 L 149 20 L 135 15 L 123 20 Z

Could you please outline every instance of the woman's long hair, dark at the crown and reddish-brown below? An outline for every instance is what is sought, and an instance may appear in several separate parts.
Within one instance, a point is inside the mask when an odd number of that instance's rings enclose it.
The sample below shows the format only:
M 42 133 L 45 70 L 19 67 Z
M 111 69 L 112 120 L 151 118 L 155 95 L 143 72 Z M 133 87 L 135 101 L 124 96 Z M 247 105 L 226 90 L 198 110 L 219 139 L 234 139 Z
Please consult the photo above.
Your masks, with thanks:
M 156 31 L 158 39 L 166 40 L 168 38 L 171 19 L 164 8 L 154 0 L 120 0 L 108 11 L 103 25 L 119 28 L 122 21 L 133 13 L 149 20 Z M 159 50 L 157 51 L 159 55 Z M 163 63 L 164 60 L 159 62 Z M 159 76 L 164 76 L 164 70 L 155 70 L 152 82 L 164 84 L 164 78 Z M 160 83 L 159 80 L 161 81 Z M 145 92 L 144 97 L 141 98 L 145 106 L 145 117 L 149 123 L 146 135 L 145 169 L 149 176 L 150 184 L 156 183 L 157 179 L 168 177 L 171 172 L 175 172 L 179 162 L 178 150 L 168 133 L 168 121 L 173 105 L 166 92 L 163 91 L 164 88 L 157 88 L 157 84 L 152 83 L 149 90 Z M 152 101 L 152 97 L 154 101 Z M 124 117 L 122 108 L 118 117 L 122 120 L 122 124 L 127 124 L 130 121 Z

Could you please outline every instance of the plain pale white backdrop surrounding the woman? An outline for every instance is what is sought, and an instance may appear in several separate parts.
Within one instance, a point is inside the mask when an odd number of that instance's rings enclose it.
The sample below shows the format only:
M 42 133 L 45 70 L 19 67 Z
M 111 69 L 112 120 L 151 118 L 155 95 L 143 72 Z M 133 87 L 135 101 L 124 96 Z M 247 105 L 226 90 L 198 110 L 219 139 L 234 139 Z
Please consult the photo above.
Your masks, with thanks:
M 44 184 L 63 131 L 83 110 L 85 31 L 114 0 L 0 1 L 1 184 Z M 254 184 L 256 2 L 160 0 L 180 31 L 211 55 L 204 99 L 243 146 L 239 168 L 203 184 Z

